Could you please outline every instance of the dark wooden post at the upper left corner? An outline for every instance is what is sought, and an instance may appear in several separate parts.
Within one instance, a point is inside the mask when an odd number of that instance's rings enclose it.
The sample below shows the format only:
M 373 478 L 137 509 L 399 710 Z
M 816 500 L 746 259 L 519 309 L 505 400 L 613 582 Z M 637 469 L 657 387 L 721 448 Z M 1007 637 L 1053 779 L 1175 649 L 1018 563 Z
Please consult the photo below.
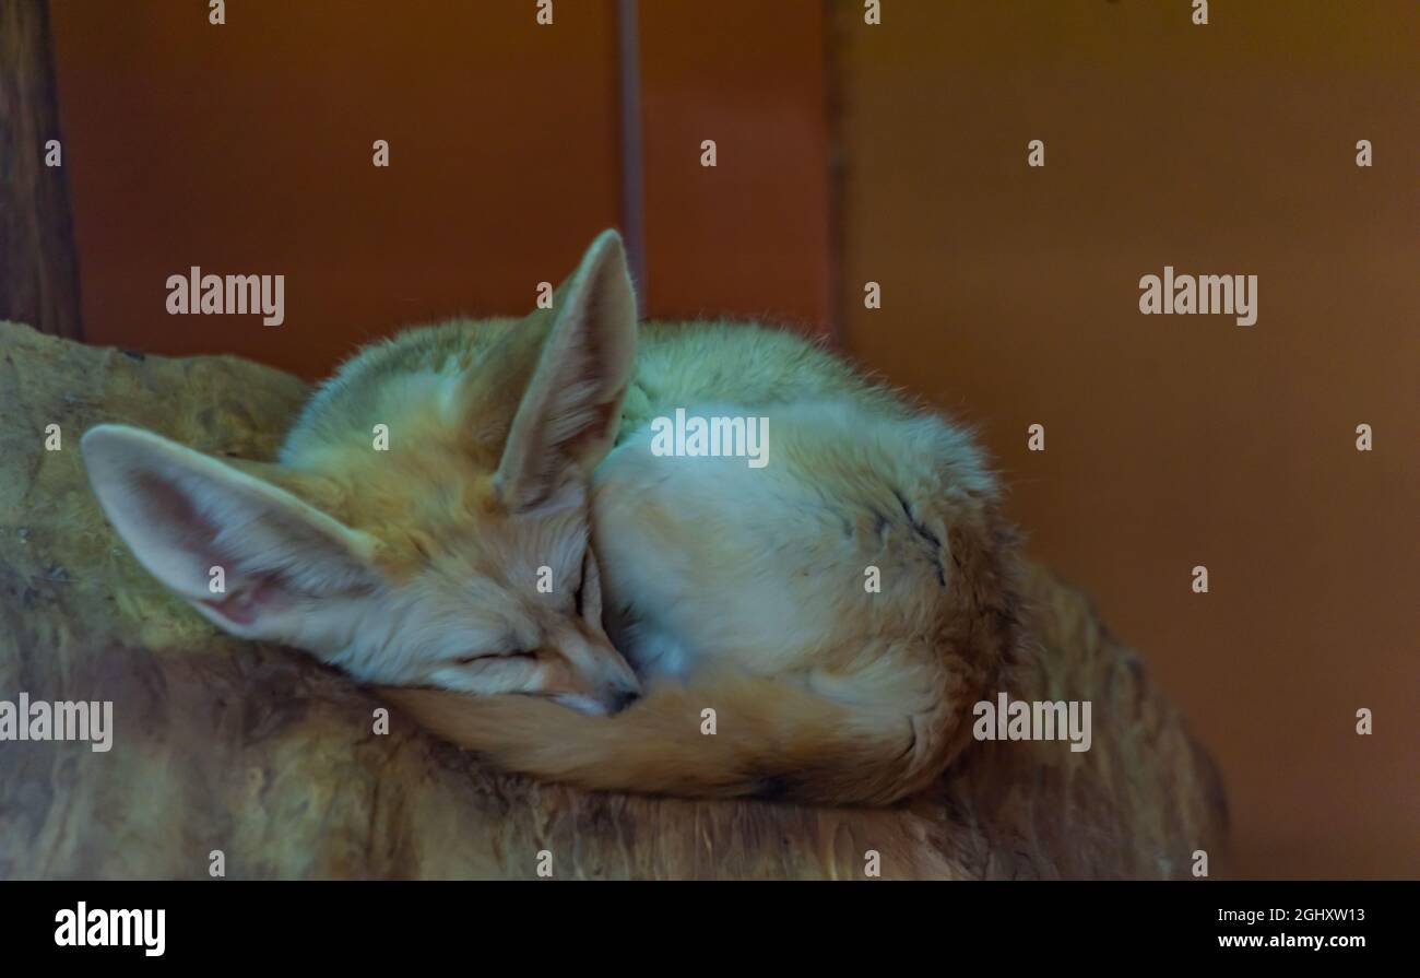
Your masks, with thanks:
M 62 165 L 45 165 L 50 139 L 60 139 L 60 112 L 48 4 L 0 0 L 0 320 L 78 338 L 68 185 Z

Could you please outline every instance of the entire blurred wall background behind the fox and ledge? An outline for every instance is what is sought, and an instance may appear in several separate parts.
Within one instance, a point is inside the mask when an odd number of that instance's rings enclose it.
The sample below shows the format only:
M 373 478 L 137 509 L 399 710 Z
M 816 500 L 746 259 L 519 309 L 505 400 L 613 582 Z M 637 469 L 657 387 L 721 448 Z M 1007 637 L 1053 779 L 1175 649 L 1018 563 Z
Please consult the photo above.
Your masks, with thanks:
M 619 226 L 648 317 L 785 323 L 978 425 L 1218 759 L 1235 874 L 1420 876 L 1420 7 L 863 7 L 0 0 L 0 65 L 54 77 L 9 105 L 0 317 L 317 378 Z M 168 316 L 193 264 L 284 274 L 285 323 Z M 1257 274 L 1257 324 L 1140 316 L 1164 264 Z

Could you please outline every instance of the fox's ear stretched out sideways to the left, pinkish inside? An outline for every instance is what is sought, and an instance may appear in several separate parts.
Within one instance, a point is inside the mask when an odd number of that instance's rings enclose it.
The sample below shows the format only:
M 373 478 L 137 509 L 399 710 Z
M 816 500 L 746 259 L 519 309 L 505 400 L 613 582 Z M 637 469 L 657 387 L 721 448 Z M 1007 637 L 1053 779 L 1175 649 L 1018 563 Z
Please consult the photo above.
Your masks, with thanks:
M 310 648 L 314 603 L 381 580 L 371 537 L 270 482 L 139 428 L 99 425 L 81 445 L 138 561 L 233 634 Z

